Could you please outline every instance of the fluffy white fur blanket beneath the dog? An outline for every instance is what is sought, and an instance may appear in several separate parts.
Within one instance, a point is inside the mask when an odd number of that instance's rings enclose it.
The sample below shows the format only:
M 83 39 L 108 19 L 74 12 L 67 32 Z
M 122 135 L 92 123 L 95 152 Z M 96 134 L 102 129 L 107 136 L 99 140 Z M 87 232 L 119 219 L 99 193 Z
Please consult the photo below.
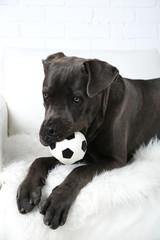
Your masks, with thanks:
M 76 198 L 66 224 L 57 230 L 44 225 L 39 207 L 75 165 L 50 172 L 39 206 L 21 215 L 17 187 L 31 162 L 50 153 L 38 137 L 25 134 L 10 137 L 6 146 L 6 166 L 0 173 L 0 240 L 160 239 L 160 141 L 142 146 L 131 164 L 95 177 Z

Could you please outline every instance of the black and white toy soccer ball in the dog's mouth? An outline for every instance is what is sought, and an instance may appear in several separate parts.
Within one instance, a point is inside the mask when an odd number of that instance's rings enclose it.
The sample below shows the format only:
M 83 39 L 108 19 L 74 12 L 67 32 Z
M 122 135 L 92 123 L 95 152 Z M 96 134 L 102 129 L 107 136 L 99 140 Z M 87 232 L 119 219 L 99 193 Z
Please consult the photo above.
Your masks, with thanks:
M 52 147 L 52 155 L 64 164 L 72 164 L 83 159 L 87 151 L 87 141 L 81 132 L 75 132 Z

